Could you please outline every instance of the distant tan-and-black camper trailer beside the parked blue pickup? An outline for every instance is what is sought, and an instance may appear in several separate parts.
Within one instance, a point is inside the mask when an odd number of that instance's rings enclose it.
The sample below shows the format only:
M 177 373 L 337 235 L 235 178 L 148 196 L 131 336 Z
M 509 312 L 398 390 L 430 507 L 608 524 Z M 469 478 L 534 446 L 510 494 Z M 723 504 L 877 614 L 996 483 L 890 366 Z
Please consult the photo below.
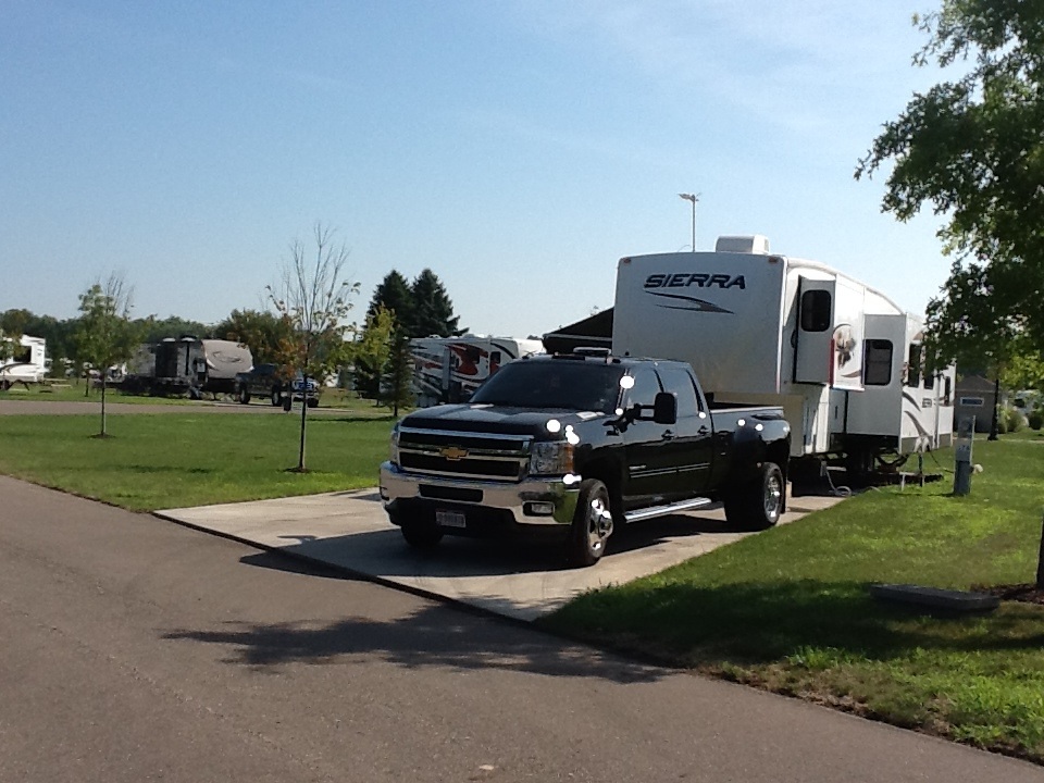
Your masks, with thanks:
M 235 394 L 236 374 L 251 366 L 250 349 L 233 340 L 167 337 L 138 348 L 127 362 L 124 387 L 194 397 Z

